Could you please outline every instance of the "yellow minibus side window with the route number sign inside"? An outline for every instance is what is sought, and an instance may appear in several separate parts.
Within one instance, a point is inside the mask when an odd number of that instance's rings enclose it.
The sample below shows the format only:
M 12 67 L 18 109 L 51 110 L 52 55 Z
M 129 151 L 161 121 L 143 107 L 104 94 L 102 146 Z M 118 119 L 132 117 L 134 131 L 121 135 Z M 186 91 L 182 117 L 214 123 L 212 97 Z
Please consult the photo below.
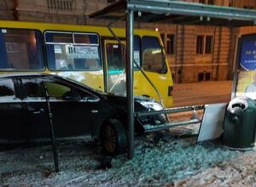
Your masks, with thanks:
M 45 32 L 48 66 L 53 71 L 92 71 L 101 69 L 96 34 Z

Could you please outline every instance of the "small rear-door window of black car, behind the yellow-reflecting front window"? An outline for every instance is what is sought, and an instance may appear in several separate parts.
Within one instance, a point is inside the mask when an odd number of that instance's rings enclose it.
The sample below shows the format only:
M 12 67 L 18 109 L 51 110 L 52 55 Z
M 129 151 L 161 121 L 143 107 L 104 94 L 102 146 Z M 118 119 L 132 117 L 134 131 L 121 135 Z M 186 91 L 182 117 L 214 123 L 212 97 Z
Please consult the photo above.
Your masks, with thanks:
M 22 79 L 25 99 L 45 99 L 44 88 L 38 79 Z

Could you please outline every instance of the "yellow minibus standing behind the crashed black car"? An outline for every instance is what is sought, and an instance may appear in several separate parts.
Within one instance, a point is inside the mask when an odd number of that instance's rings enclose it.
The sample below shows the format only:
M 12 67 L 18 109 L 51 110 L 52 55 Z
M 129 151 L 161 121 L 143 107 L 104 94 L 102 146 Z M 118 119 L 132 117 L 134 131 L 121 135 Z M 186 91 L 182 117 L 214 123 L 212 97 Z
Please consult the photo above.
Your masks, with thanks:
M 115 37 L 104 26 L 0 20 L 0 73 L 56 74 L 125 95 L 125 30 L 113 32 Z M 134 94 L 171 106 L 172 74 L 159 32 L 135 30 L 134 61 Z

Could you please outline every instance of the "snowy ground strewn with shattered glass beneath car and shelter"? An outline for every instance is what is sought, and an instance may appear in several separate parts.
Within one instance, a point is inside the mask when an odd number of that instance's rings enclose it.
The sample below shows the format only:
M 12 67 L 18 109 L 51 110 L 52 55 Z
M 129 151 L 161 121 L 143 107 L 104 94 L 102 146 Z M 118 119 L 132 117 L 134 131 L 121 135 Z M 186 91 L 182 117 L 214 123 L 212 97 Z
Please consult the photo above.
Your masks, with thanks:
M 149 134 L 138 138 L 134 159 L 127 160 L 125 156 L 114 158 L 109 169 L 100 166 L 98 146 L 83 141 L 58 144 L 60 173 L 53 172 L 53 156 L 49 145 L 2 150 L 0 186 L 203 185 L 201 175 L 209 183 L 214 182 L 212 178 L 221 181 L 221 173 L 232 172 L 233 167 L 226 167 L 230 166 L 230 159 L 247 156 L 243 152 L 227 150 L 218 142 L 195 144 L 196 137 L 176 139 L 170 134 L 161 139 L 158 137 L 159 134 Z M 253 156 L 253 153 L 248 156 Z M 250 165 L 250 162 L 247 164 Z M 250 168 L 254 167 L 256 163 Z M 217 177 L 211 177 L 212 171 Z

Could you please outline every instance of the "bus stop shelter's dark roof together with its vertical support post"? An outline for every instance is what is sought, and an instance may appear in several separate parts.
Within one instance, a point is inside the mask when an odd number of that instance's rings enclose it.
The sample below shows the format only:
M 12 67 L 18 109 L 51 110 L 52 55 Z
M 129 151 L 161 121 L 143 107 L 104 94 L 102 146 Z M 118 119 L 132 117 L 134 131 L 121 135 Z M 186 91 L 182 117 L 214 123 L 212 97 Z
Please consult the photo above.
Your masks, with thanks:
M 129 150 L 134 156 L 134 95 L 133 95 L 133 31 L 134 21 L 204 26 L 253 26 L 256 11 L 176 0 L 121 0 L 90 14 L 90 18 L 125 20 L 126 27 L 126 90 Z

